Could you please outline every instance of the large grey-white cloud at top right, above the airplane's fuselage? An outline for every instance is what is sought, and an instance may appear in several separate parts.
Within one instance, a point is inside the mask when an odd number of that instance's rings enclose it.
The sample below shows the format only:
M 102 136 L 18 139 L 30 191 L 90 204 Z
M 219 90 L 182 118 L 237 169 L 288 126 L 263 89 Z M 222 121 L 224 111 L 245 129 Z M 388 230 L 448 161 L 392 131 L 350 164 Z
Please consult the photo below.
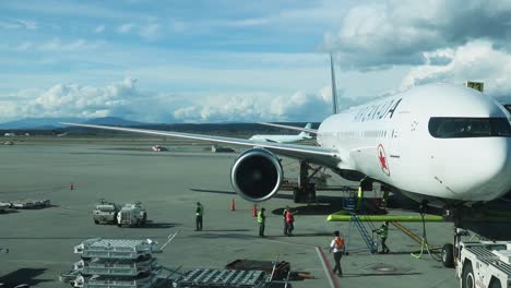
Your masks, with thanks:
M 511 48 L 510 28 L 511 2 L 504 0 L 392 0 L 350 9 L 337 33 L 325 34 L 322 48 L 335 51 L 346 69 L 387 69 L 423 64 L 424 52 L 475 39 Z

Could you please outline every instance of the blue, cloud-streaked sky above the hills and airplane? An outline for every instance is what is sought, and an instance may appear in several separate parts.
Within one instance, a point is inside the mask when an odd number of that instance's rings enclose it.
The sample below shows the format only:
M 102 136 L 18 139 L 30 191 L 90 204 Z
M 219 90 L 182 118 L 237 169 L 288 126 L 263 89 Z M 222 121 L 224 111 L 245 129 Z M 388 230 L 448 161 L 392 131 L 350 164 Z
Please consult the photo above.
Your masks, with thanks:
M 511 100 L 511 1 L 1 1 L 0 122 L 321 121 L 432 82 Z

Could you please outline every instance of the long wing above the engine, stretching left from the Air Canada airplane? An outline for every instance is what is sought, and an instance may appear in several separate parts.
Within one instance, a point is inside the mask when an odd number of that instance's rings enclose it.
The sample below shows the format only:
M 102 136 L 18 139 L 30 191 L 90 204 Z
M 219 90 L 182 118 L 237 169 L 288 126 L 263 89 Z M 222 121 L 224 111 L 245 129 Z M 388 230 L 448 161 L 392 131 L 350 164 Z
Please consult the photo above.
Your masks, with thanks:
M 92 129 L 103 129 L 111 131 L 122 131 L 131 132 L 139 134 L 147 135 L 158 135 L 158 136 L 171 136 L 189 140 L 198 140 L 211 143 L 223 143 L 240 146 L 250 146 L 250 147 L 263 147 L 275 154 L 308 160 L 310 163 L 328 166 L 335 168 L 338 163 L 342 161 L 340 154 L 335 149 L 318 147 L 318 146 L 306 146 L 306 145 L 294 145 L 294 144 L 282 144 L 274 142 L 257 142 L 246 139 L 235 139 L 235 137 L 223 137 L 223 136 L 211 136 L 202 134 L 191 134 L 191 133 L 181 133 L 173 131 L 158 131 L 158 130 L 146 130 L 146 129 L 136 129 L 136 128 L 122 128 L 122 127 L 107 127 L 107 125 L 92 125 L 92 124 L 78 124 L 78 123 L 62 123 L 71 127 L 83 127 Z

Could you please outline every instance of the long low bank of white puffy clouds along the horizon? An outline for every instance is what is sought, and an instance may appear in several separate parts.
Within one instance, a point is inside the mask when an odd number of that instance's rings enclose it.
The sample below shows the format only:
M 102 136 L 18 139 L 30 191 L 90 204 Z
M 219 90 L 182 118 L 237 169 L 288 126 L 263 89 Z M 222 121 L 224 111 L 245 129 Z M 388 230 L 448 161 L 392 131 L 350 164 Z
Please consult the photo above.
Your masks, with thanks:
M 342 108 L 358 104 L 341 99 Z M 292 95 L 175 95 L 142 92 L 136 80 L 103 87 L 58 84 L 0 97 L 4 121 L 41 117 L 122 117 L 144 122 L 321 121 L 331 112 L 330 87 Z

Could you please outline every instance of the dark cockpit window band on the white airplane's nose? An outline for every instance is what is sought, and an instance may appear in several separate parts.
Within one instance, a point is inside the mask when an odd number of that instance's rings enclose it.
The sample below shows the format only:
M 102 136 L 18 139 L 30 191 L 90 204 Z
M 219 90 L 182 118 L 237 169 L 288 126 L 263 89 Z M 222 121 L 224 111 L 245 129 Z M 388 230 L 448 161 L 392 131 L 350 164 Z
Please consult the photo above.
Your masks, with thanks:
M 432 117 L 428 128 L 431 136 L 440 139 L 511 136 L 507 118 Z

